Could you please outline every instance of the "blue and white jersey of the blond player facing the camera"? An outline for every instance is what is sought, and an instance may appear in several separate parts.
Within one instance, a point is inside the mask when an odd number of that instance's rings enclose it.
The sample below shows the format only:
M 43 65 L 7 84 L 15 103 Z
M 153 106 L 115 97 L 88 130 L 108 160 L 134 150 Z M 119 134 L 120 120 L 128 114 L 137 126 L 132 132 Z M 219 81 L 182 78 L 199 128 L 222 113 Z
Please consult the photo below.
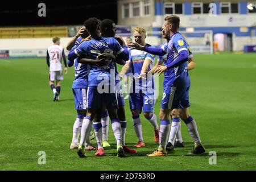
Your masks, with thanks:
M 154 46 L 151 46 L 149 44 L 146 44 L 146 46 L 154 48 Z M 134 74 L 134 78 L 137 78 L 141 74 L 141 69 L 142 69 L 144 60 L 146 58 L 151 60 L 151 63 L 148 66 L 147 71 L 150 71 L 150 69 L 154 67 L 155 55 L 152 55 L 150 53 L 137 50 L 137 49 L 130 49 L 129 54 L 130 54 L 129 61 L 131 61 L 131 72 Z M 151 75 L 151 78 L 147 80 L 140 79 L 134 82 L 135 82 L 134 86 L 139 88 L 139 90 L 142 90 L 142 89 L 144 90 L 148 88 L 154 89 L 154 76 L 152 75 Z

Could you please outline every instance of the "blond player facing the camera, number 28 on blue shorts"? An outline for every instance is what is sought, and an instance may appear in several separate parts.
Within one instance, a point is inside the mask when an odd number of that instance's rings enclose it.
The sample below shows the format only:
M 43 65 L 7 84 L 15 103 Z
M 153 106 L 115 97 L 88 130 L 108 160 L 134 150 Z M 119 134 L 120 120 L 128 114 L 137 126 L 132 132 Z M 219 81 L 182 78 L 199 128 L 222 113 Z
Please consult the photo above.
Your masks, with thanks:
M 137 27 L 134 30 L 135 42 L 145 47 L 152 47 L 145 43 L 146 30 L 141 27 Z M 133 126 L 135 133 L 138 137 L 138 143 L 134 147 L 144 147 L 144 140 L 142 136 L 142 124 L 139 114 L 142 112 L 143 115 L 151 125 L 154 127 L 155 142 L 159 142 L 159 126 L 156 121 L 154 114 L 155 105 L 155 89 L 154 89 L 154 78 L 143 79 L 141 75 L 145 72 L 150 71 L 154 67 L 155 55 L 150 53 L 132 49 L 130 52 L 130 60 L 127 61 L 125 66 L 122 68 L 121 75 L 125 75 L 131 68 L 135 80 L 130 90 L 130 110 L 133 115 Z

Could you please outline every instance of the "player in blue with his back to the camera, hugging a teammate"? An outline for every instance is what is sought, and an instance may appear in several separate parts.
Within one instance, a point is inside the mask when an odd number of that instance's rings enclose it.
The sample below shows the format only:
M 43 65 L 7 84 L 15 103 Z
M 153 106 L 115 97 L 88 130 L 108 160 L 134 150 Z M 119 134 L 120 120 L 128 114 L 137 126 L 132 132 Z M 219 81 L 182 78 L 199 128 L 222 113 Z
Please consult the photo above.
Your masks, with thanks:
M 100 35 L 101 29 L 97 18 L 90 18 L 85 21 L 85 27 L 92 36 L 92 40 L 83 42 L 79 47 L 69 52 L 68 59 L 74 60 L 80 55 L 86 55 L 88 59 L 96 60 L 104 57 L 104 53 L 111 53 L 117 55 L 121 59 L 129 60 L 129 52 L 127 47 L 121 47 L 114 38 L 102 38 Z M 103 54 L 103 56 L 101 56 Z M 121 123 L 117 117 L 117 100 L 115 92 L 115 83 L 110 79 L 111 69 L 114 69 L 113 60 L 110 57 L 104 57 L 109 61 L 105 65 L 92 65 L 90 67 L 88 79 L 88 93 L 87 93 L 87 114 L 84 122 L 82 123 L 81 133 L 84 131 L 85 138 L 90 133 L 92 125 L 92 118 L 94 118 L 94 131 L 98 144 L 98 151 L 95 155 L 104 155 L 104 148 L 102 147 L 102 125 L 101 125 L 101 109 L 102 105 L 106 105 L 109 117 L 112 120 L 112 129 L 114 131 L 115 139 L 117 140 L 117 154 L 119 157 L 125 156 L 122 147 L 121 137 Z M 112 76 L 113 77 L 113 76 Z M 82 145 L 85 138 L 81 138 L 77 154 L 84 157 L 84 148 Z

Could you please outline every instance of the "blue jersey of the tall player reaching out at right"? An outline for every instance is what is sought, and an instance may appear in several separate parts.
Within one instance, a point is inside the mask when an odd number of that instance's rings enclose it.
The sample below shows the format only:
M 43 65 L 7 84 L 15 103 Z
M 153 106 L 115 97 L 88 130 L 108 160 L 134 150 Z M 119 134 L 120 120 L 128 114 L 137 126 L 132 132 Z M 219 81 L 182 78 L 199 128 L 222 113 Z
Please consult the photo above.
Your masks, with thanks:
M 187 51 L 189 55 L 189 48 L 188 48 L 188 43 L 181 35 L 179 32 L 176 34 L 172 35 L 170 38 L 170 41 L 168 42 L 167 45 L 162 46 L 162 49 L 164 51 L 167 50 L 167 64 L 172 63 L 177 57 L 179 57 L 179 52 L 180 51 Z M 179 65 L 178 67 L 168 69 L 167 72 L 167 85 L 172 86 L 175 85 L 177 86 L 179 82 L 186 82 L 189 81 L 189 74 L 188 74 L 188 61 L 185 63 Z

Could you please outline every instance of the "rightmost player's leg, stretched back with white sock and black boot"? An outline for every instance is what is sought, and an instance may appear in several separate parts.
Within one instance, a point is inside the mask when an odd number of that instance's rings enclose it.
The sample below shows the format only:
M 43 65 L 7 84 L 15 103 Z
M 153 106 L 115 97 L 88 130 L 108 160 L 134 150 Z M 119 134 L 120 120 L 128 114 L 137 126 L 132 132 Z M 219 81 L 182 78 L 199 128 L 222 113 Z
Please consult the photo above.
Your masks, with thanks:
M 192 154 L 202 154 L 205 152 L 204 146 L 201 143 L 199 132 L 197 130 L 197 125 L 195 119 L 192 118 L 189 113 L 189 107 L 180 109 L 180 118 L 185 122 L 188 127 L 188 133 L 193 139 L 195 146 L 193 147 Z

